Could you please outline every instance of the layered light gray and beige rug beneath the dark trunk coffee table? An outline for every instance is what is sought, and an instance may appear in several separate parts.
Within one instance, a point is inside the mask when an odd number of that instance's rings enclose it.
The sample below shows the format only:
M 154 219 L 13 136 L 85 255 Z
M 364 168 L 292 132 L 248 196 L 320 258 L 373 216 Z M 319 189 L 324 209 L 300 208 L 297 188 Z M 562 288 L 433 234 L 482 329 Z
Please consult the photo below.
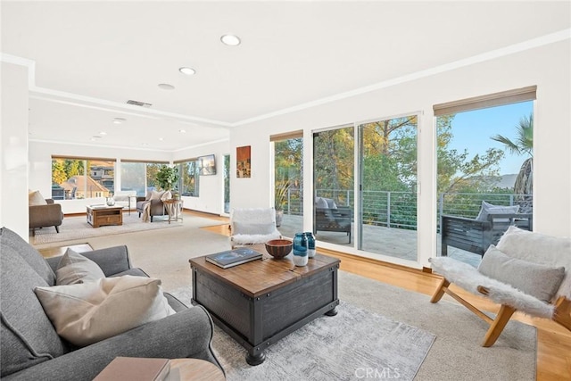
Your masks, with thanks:
M 186 286 L 172 293 L 188 303 L 192 290 Z M 288 335 L 269 348 L 266 361 L 258 367 L 247 365 L 244 348 L 216 327 L 212 347 L 228 380 L 535 379 L 534 327 L 510 320 L 496 344 L 484 348 L 480 343 L 487 324 L 456 302 L 443 300 L 433 304 L 428 295 L 346 271 L 339 271 L 339 298 L 342 304 L 337 316 L 316 319 Z M 341 337 L 329 332 L 342 327 L 337 318 L 350 322 L 343 326 Z M 373 321 L 376 324 L 371 326 Z M 366 329 L 361 329 L 362 326 Z M 387 327 L 394 327 L 394 331 Z M 402 333 L 407 329 L 410 335 Z M 428 344 L 430 350 L 424 361 L 419 361 L 418 372 L 403 371 L 400 355 L 393 352 L 395 339 L 400 337 L 401 348 L 413 351 L 426 345 L 426 333 L 435 339 L 432 346 Z M 318 349 L 305 349 L 316 343 Z M 380 345 L 376 346 L 377 343 Z M 361 356 L 363 353 L 367 356 Z M 407 352 L 405 356 L 408 355 Z M 342 371 L 346 377 L 339 376 Z

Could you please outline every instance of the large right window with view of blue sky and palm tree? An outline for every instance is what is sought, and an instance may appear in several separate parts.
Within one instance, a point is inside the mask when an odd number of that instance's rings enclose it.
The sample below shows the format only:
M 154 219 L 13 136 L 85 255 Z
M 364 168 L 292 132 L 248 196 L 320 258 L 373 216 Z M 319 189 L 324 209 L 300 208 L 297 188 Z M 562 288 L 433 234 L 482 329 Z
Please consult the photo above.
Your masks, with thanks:
M 437 116 L 440 254 L 477 266 L 509 224 L 531 228 L 533 111 L 531 100 Z M 460 225 L 483 206 L 517 218 L 485 221 L 487 236 Z

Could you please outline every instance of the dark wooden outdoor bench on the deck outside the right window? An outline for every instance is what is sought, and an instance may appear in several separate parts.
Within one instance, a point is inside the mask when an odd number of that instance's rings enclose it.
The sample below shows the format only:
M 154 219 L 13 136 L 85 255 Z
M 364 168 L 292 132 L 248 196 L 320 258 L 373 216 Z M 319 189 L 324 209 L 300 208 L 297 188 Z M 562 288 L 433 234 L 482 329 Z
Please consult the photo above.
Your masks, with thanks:
M 442 255 L 447 256 L 448 246 L 452 246 L 484 256 L 490 244 L 497 244 L 510 225 L 531 231 L 532 223 L 531 213 L 490 214 L 485 221 L 443 215 Z

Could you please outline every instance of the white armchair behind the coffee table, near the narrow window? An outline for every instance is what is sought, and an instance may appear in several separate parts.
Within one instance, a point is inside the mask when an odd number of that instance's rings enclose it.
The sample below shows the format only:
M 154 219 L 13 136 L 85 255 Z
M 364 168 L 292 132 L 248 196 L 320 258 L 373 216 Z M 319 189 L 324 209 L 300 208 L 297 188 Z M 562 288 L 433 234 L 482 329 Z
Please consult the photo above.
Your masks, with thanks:
M 270 239 L 281 238 L 276 228 L 274 208 L 241 208 L 230 213 L 230 241 L 240 244 L 263 244 Z

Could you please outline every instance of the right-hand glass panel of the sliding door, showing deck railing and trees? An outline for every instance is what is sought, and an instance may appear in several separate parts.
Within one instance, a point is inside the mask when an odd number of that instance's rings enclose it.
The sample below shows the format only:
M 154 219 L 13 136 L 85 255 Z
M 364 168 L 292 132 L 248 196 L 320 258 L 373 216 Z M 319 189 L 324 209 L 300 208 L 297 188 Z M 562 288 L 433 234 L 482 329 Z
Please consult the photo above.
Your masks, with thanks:
M 417 261 L 417 115 L 359 125 L 358 248 Z

